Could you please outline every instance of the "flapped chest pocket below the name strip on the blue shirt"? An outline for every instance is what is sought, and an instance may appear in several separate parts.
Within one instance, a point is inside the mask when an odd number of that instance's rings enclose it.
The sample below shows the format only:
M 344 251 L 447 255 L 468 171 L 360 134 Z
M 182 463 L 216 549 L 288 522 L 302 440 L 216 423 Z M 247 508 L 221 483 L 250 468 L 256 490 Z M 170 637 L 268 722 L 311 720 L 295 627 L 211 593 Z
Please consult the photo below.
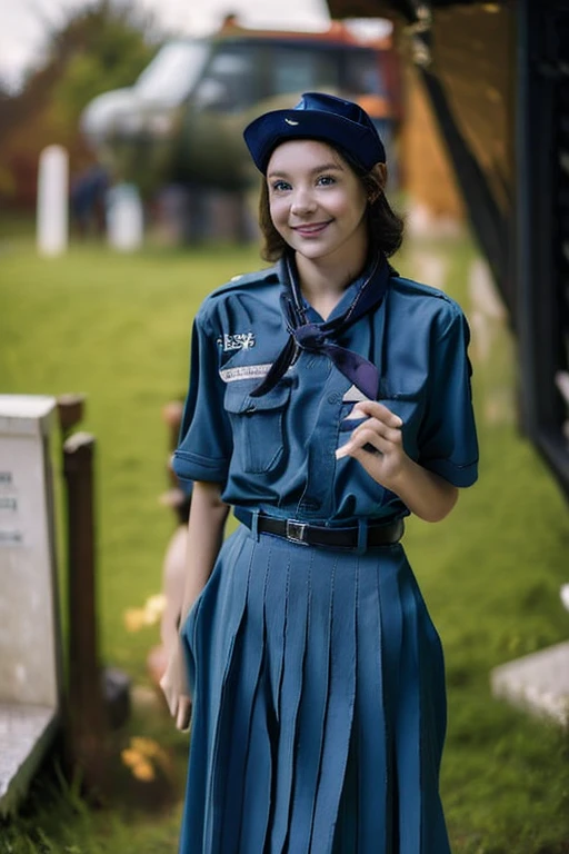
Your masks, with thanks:
M 233 430 L 233 447 L 239 466 L 250 474 L 276 468 L 284 450 L 284 410 L 290 383 L 281 380 L 262 397 L 251 397 L 254 387 L 247 381 L 229 383 L 224 407 Z M 246 386 L 246 388 L 243 388 Z

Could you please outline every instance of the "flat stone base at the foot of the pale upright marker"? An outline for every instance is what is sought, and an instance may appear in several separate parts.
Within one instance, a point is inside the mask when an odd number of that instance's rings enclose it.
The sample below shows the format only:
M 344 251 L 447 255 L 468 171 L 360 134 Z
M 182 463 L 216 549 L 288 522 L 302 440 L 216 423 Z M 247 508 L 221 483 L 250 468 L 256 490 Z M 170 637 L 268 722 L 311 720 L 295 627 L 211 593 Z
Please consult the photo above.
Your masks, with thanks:
M 57 725 L 53 708 L 0 703 L 0 815 L 24 795 Z

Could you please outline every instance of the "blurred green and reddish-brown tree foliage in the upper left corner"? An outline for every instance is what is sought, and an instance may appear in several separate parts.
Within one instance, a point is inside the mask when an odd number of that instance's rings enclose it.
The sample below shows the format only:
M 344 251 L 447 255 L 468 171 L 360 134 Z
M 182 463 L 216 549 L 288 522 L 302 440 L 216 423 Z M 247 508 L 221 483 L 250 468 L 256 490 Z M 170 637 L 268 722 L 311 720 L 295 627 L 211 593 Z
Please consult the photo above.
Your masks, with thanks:
M 42 63 L 22 91 L 0 88 L 0 199 L 28 207 L 36 195 L 40 151 L 59 143 L 71 170 L 91 160 L 79 130 L 87 103 L 101 92 L 131 86 L 161 43 L 156 22 L 133 0 L 94 0 L 48 34 Z

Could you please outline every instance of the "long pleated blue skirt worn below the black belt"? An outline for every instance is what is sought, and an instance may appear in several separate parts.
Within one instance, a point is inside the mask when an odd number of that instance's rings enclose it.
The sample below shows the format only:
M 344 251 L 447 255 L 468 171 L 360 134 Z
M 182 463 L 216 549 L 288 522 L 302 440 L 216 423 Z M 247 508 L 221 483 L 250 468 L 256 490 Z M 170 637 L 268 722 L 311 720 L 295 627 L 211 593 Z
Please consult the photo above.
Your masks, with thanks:
M 401 545 L 229 537 L 183 627 L 180 854 L 449 854 L 442 651 Z

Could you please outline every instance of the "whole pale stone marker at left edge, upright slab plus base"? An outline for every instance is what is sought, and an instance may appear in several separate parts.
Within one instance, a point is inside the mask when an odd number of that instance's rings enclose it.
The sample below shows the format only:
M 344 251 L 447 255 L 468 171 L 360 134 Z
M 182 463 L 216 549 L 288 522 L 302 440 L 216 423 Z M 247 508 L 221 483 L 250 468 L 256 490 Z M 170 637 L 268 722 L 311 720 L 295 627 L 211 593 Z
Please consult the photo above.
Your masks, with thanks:
M 61 712 L 52 397 L 0 395 L 0 814 L 13 810 Z

